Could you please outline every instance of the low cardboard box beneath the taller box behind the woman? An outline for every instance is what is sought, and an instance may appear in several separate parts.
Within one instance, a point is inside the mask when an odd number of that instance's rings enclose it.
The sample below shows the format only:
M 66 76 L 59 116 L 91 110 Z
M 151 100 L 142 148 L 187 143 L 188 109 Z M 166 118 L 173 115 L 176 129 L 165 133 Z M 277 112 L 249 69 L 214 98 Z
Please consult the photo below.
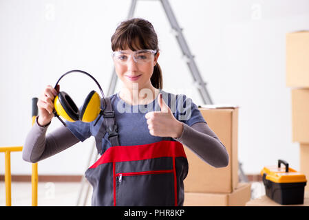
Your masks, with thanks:
M 184 206 L 245 206 L 251 199 L 251 184 L 239 183 L 231 193 L 184 192 Z

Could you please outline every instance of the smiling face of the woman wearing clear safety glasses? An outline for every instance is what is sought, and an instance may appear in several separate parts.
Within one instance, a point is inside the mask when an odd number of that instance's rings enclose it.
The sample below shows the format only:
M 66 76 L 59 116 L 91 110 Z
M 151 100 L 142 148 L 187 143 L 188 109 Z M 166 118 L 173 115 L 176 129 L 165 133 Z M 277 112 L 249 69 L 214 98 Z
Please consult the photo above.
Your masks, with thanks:
M 158 62 L 159 52 L 151 54 L 149 61 L 142 61 L 146 56 L 140 51 L 118 50 L 118 58 L 114 57 L 114 65 L 118 78 L 127 89 L 132 89 L 138 83 L 138 89 L 151 88 L 150 78 L 153 67 Z M 125 62 L 124 62 L 125 61 Z M 136 85 L 135 85 L 136 86 Z M 135 87 L 136 88 L 136 87 Z

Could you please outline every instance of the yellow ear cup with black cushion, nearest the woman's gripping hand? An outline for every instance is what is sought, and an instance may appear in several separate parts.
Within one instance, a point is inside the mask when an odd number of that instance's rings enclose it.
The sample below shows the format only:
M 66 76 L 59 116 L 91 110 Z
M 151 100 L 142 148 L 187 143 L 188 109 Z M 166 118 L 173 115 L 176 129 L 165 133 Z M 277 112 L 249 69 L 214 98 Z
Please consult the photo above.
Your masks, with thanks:
M 56 96 L 54 108 L 58 115 L 61 115 L 69 122 L 78 120 L 78 107 L 76 107 L 72 98 L 65 91 L 61 91 L 58 96 Z

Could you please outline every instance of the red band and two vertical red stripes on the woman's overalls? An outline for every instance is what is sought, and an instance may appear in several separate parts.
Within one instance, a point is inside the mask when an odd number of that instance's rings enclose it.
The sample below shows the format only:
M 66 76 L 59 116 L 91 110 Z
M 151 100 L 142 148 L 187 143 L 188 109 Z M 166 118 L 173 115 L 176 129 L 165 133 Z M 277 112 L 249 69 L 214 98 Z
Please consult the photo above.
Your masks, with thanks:
M 174 195 L 175 206 L 178 205 L 177 199 L 177 177 L 175 168 L 175 157 L 186 157 L 184 148 L 180 142 L 163 140 L 152 144 L 132 145 L 132 146 L 111 146 L 103 155 L 89 168 L 96 168 L 100 164 L 113 163 L 114 175 L 114 206 L 116 206 L 116 173 L 115 162 L 135 161 L 141 159 L 153 159 L 158 157 L 173 157 L 174 174 Z

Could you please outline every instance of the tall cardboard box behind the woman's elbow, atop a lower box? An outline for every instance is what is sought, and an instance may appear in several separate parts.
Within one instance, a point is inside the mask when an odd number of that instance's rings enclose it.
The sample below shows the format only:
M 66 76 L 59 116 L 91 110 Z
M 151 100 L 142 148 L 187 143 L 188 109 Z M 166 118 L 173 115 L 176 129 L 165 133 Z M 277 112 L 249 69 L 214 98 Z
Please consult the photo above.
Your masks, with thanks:
M 184 179 L 184 192 L 233 192 L 238 184 L 237 107 L 207 106 L 200 111 L 209 127 L 219 137 L 229 155 L 228 166 L 215 168 L 204 162 L 191 149 L 184 147 L 189 173 Z

